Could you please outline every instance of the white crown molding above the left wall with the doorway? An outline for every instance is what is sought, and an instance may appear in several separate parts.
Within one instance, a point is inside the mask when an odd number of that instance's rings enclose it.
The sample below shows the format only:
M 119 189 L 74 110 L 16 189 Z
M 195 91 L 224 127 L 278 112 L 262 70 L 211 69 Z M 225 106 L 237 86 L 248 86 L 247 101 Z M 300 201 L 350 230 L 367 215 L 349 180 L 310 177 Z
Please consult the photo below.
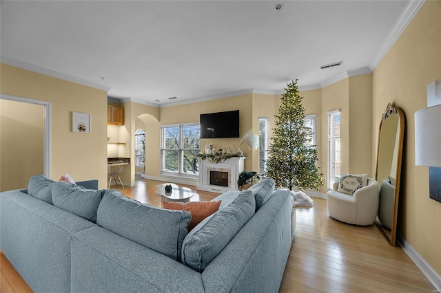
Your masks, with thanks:
M 56 72 L 54 70 L 51 69 L 47 69 L 47 68 L 43 68 L 43 67 L 39 67 L 37 65 L 32 65 L 30 63 L 25 63 L 23 61 L 18 61 L 6 56 L 0 56 L 0 62 L 6 65 L 10 65 L 10 66 L 14 66 L 14 67 L 19 67 L 21 69 L 25 69 L 25 70 L 29 70 L 31 72 L 37 72 L 39 74 L 44 74 L 47 76 L 52 76 L 54 78 L 59 78 L 62 80 L 67 80 L 70 81 L 72 83 L 78 83 L 80 85 L 85 85 L 88 87 L 93 87 L 94 89 L 101 89 L 103 91 L 110 91 L 110 89 L 112 89 L 112 87 L 107 87 L 107 85 L 101 85 L 99 83 L 94 83 L 93 81 L 90 80 L 85 80 L 82 78 L 77 78 L 75 76 L 71 76 L 69 74 L 63 74 L 61 72 Z

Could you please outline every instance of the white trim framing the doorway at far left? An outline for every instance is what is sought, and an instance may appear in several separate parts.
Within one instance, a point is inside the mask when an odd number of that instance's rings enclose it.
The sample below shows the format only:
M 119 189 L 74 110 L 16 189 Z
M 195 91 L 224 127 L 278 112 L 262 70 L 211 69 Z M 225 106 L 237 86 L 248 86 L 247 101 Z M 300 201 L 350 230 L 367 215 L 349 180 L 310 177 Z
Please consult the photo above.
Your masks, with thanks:
M 50 102 L 3 94 L 0 94 L 0 99 L 12 100 L 14 102 L 26 102 L 28 104 L 42 105 L 44 107 L 43 175 L 50 178 Z

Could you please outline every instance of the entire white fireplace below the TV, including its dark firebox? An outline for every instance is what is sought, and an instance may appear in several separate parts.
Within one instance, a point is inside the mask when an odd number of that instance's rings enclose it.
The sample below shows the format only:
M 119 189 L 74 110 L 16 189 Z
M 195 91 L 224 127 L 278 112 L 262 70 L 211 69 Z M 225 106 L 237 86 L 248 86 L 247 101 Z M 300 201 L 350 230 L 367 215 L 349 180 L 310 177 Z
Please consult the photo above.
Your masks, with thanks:
M 231 158 L 217 164 L 199 160 L 199 184 L 196 188 L 214 193 L 237 190 L 237 180 L 243 171 L 244 162 L 245 157 Z

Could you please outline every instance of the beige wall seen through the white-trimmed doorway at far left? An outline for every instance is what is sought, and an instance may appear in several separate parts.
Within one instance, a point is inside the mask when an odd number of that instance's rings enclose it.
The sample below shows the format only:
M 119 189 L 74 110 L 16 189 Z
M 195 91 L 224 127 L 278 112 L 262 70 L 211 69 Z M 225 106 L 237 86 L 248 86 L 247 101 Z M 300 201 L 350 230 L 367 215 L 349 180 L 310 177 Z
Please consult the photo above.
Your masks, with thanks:
M 44 106 L 0 100 L 0 191 L 43 174 Z

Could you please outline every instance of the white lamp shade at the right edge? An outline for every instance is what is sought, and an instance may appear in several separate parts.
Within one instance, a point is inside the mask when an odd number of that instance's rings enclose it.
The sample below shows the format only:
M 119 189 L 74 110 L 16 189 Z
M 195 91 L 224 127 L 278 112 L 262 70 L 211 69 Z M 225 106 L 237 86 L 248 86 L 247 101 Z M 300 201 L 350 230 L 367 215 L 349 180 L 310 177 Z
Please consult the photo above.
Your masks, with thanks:
M 415 164 L 441 167 L 441 105 L 415 112 Z

